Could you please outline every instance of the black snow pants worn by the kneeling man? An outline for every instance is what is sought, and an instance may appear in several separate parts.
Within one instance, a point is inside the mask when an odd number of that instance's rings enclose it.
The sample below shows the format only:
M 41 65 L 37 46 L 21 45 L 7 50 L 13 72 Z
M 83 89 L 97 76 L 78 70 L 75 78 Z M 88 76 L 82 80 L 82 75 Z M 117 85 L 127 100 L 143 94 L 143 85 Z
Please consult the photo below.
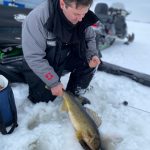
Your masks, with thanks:
M 66 90 L 76 94 L 78 89 L 86 89 L 89 86 L 95 68 L 90 68 L 87 62 L 73 55 L 70 55 L 66 60 L 65 65 L 55 71 L 60 78 L 64 71 L 71 72 Z M 23 74 L 29 85 L 28 98 L 33 103 L 49 102 L 56 98 L 56 96 L 52 95 L 51 90 L 45 88 L 45 83 L 33 73 L 25 61 L 23 62 Z

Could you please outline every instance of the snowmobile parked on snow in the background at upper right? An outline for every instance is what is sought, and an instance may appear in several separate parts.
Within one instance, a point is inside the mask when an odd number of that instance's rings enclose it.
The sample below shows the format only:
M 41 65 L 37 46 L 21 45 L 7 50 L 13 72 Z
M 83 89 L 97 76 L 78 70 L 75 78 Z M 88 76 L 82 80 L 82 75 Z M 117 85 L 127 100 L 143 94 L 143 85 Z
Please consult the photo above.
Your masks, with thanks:
M 134 40 L 134 33 L 128 34 L 126 17 L 130 14 L 122 3 L 114 3 L 108 7 L 106 3 L 97 3 L 94 10 L 99 21 L 92 27 L 96 32 L 96 43 L 99 50 L 110 47 L 116 39 L 126 40 L 129 44 Z

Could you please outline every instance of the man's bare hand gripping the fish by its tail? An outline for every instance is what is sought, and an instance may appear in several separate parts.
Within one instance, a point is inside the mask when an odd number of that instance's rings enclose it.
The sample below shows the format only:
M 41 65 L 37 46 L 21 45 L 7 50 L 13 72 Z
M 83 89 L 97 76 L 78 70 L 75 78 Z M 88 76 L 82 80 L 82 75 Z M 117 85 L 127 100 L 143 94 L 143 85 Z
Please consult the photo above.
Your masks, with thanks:
M 52 95 L 54 96 L 63 96 L 64 86 L 62 83 L 51 88 Z

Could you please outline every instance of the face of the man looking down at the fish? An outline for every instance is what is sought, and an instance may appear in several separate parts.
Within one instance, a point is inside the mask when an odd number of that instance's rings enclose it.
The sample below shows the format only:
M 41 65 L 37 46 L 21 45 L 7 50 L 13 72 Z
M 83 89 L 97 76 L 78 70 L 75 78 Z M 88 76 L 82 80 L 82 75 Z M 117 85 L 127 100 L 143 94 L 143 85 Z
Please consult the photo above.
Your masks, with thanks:
M 64 3 L 64 0 L 60 0 L 60 7 L 66 18 L 72 24 L 77 24 L 78 22 L 82 21 L 90 6 L 78 6 L 76 8 L 75 3 L 71 3 L 71 5 L 68 6 Z

